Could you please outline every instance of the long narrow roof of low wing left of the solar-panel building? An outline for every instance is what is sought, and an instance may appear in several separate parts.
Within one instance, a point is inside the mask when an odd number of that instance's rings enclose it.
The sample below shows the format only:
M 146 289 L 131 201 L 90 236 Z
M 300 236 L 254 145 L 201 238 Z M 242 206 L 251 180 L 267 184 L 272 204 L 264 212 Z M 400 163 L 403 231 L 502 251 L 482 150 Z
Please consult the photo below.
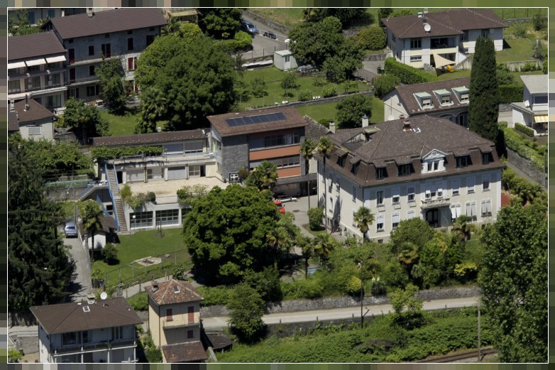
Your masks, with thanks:
M 199 138 L 207 138 L 206 135 L 202 134 L 202 129 L 188 131 L 153 132 L 150 134 L 122 136 L 100 136 L 98 138 L 92 138 L 92 143 L 94 146 L 120 146 L 167 143 L 170 141 L 198 140 Z

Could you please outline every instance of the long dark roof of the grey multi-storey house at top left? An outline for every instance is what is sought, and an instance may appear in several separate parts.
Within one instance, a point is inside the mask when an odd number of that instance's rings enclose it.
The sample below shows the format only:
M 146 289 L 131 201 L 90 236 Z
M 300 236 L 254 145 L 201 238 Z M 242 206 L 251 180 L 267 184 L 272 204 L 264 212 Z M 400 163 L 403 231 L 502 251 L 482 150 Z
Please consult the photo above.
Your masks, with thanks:
M 99 11 L 92 17 L 87 16 L 87 13 L 81 13 L 75 16 L 51 18 L 43 27 L 48 23 L 53 24 L 64 40 L 167 24 L 163 14 L 157 8 L 120 8 Z

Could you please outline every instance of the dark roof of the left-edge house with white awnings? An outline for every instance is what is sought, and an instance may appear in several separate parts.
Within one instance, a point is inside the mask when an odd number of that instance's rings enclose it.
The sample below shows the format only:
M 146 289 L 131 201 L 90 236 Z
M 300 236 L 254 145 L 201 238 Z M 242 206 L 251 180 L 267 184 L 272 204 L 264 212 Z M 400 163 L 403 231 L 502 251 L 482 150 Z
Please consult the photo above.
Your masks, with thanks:
M 65 54 L 65 48 L 52 31 L 8 38 L 8 60 Z

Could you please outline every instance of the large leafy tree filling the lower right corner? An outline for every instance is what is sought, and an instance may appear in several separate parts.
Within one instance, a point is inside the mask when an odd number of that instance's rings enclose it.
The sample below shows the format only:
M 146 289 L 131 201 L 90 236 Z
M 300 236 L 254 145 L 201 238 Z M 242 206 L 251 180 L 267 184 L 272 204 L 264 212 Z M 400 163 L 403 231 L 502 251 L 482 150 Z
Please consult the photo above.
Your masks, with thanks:
M 503 207 L 486 227 L 478 282 L 502 362 L 547 361 L 547 215 Z

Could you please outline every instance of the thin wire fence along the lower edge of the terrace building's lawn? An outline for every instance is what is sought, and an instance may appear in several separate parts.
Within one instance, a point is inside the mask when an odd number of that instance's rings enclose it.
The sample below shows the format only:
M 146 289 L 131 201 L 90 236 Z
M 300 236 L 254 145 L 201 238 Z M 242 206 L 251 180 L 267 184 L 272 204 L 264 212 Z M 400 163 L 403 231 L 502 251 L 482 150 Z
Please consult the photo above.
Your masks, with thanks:
M 187 268 L 192 267 L 189 260 L 189 252 L 187 249 L 179 249 L 169 254 L 161 254 L 159 256 L 148 256 L 138 259 L 131 263 L 106 271 L 104 276 L 99 276 L 93 282 L 95 288 L 106 288 L 106 291 L 113 293 L 115 290 L 118 295 L 123 295 L 123 289 L 133 285 L 141 285 L 155 278 L 162 278 L 172 274 L 172 268 L 177 263 L 186 261 Z M 139 291 L 141 288 L 139 288 Z

